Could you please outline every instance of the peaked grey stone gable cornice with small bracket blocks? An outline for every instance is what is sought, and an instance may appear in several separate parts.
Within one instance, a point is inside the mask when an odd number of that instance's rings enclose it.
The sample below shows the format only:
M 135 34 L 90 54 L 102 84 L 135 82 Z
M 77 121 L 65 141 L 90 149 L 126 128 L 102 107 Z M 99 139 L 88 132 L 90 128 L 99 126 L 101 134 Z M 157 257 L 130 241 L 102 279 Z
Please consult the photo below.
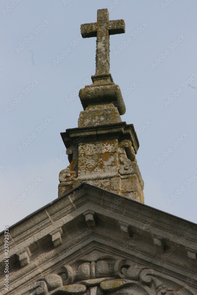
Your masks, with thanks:
M 35 223 L 38 216 L 40 228 Z M 10 228 L 10 257 L 18 257 L 20 265 L 10 278 L 13 288 L 29 286 L 63 261 L 73 263 L 84 257 L 82 253 L 99 249 L 103 255 L 130 257 L 185 283 L 189 278 L 189 285 L 197 288 L 196 228 L 192 222 L 82 183 Z M 4 235 L 0 239 L 3 261 Z

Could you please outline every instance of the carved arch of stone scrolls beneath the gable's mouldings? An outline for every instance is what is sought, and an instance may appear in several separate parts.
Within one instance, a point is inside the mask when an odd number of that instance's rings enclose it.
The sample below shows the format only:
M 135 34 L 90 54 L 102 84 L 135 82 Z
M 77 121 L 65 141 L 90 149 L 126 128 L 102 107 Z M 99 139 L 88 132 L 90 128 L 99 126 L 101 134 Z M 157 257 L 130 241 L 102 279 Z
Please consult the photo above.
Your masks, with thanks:
M 197 295 L 185 283 L 163 273 L 129 260 L 112 260 L 62 266 L 37 281 L 31 295 Z

